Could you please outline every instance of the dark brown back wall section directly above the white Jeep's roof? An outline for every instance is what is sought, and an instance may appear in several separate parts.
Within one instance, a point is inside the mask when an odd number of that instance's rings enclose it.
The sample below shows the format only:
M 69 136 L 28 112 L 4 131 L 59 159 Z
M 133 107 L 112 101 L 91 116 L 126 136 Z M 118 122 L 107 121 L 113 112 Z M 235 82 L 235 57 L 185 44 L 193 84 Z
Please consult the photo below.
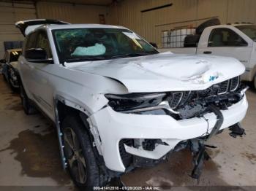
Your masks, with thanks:
M 83 4 L 37 2 L 39 18 L 64 20 L 69 23 L 99 23 L 99 14 L 106 15 L 107 7 Z

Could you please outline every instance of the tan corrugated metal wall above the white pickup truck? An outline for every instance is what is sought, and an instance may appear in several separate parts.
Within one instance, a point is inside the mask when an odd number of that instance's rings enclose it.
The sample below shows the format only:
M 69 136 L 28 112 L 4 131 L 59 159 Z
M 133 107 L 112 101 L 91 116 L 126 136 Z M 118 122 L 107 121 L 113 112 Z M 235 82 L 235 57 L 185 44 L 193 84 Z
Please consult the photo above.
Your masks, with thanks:
M 140 12 L 170 3 L 173 6 Z M 196 27 L 208 17 L 217 16 L 222 23 L 255 23 L 255 7 L 255 0 L 124 0 L 110 7 L 108 19 L 111 24 L 126 26 L 149 42 L 161 45 L 162 31 Z

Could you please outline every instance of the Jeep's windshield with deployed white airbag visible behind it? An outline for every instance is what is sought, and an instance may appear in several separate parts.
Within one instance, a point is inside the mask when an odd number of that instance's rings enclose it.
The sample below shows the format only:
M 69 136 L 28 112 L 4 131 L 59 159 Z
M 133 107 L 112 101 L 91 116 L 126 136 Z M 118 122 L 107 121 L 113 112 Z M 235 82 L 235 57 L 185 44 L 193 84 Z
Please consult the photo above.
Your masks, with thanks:
M 53 30 L 61 63 L 97 61 L 158 53 L 132 31 L 120 28 L 72 28 Z

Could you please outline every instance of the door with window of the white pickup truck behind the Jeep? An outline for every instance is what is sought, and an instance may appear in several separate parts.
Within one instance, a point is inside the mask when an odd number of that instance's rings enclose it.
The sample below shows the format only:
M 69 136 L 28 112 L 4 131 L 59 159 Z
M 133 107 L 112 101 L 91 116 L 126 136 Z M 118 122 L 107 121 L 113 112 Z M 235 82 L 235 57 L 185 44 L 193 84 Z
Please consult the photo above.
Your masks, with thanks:
M 200 44 L 197 54 L 233 57 L 246 65 L 252 52 L 252 43 L 232 28 L 214 28 L 208 35 L 208 43 Z M 204 36 L 206 37 L 206 36 Z

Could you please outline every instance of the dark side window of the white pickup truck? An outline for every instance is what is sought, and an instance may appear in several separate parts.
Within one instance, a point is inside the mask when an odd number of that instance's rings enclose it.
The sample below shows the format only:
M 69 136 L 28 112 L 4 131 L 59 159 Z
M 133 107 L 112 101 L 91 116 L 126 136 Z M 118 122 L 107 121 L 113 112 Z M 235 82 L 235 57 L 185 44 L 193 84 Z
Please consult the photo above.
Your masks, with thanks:
M 244 47 L 247 43 L 229 28 L 216 28 L 211 31 L 208 47 Z

